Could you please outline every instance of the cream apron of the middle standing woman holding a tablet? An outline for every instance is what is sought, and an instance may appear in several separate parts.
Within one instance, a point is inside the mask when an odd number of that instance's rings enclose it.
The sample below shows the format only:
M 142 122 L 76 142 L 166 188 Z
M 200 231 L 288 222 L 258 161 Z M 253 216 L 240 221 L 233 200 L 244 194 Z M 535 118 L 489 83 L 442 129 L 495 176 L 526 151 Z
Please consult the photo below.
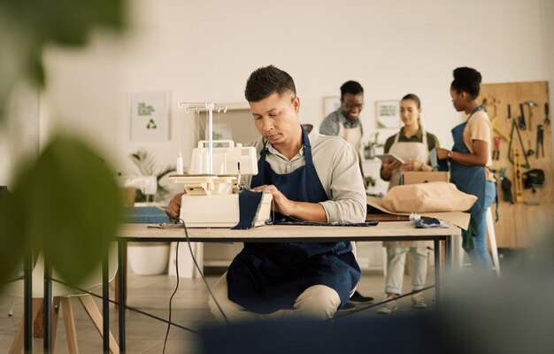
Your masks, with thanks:
M 390 146 L 389 152 L 395 154 L 399 158 L 403 158 L 404 161 L 408 161 L 410 158 L 414 160 L 423 161 L 427 163 L 429 159 L 429 145 L 427 144 L 427 133 L 421 128 L 421 142 L 399 142 L 398 139 L 402 134 L 402 130 L 396 134 L 395 142 Z M 390 176 L 389 189 L 398 185 L 400 176 L 402 175 L 402 169 L 396 168 Z M 431 244 L 428 241 L 386 241 L 383 242 L 383 246 L 386 247 L 427 247 Z

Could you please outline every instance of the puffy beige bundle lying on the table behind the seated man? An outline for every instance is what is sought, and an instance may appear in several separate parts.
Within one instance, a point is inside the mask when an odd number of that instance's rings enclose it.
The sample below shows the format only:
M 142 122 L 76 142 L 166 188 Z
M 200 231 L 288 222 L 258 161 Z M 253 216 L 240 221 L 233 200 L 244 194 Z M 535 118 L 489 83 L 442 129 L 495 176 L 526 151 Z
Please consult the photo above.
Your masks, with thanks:
M 453 183 L 428 182 L 393 187 L 382 204 L 392 212 L 466 212 L 476 200 Z

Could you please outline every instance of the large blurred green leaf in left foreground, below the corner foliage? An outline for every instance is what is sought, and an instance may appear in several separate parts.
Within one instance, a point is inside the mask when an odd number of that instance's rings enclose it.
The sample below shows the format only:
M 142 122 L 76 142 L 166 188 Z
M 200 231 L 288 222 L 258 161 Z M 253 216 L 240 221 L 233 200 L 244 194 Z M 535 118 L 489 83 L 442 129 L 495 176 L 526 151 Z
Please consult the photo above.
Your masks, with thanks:
M 121 196 L 112 170 L 83 142 L 58 135 L 17 181 L 24 235 L 65 281 L 96 270 L 117 232 Z

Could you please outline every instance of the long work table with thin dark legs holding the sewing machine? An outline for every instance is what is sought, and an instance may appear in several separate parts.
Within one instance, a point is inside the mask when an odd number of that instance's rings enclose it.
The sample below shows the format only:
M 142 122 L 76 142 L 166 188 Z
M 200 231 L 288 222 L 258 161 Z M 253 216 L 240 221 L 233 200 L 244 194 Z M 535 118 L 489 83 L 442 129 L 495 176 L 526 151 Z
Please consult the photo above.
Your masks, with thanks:
M 335 226 L 298 226 L 272 225 L 256 227 L 250 230 L 231 230 L 228 228 L 188 228 L 190 242 L 342 242 L 342 241 L 433 241 L 435 243 L 435 300 L 440 303 L 442 252 L 440 244 L 444 242 L 446 265 L 450 265 L 451 238 L 460 236 L 458 227 L 414 228 L 410 221 L 381 222 L 374 227 L 335 227 Z M 127 242 L 186 242 L 182 227 L 149 228 L 146 224 L 123 224 L 117 240 L 119 242 L 119 269 L 127 263 Z M 104 265 L 106 262 L 104 262 Z M 107 273 L 107 270 L 106 270 Z M 119 296 L 126 297 L 123 277 L 119 272 Z M 107 277 L 104 289 L 107 289 Z M 104 297 L 104 308 L 109 299 Z M 126 352 L 125 304 L 119 305 L 119 352 Z M 109 331 L 109 320 L 104 312 L 104 333 Z M 109 352 L 109 338 L 104 336 L 104 352 Z

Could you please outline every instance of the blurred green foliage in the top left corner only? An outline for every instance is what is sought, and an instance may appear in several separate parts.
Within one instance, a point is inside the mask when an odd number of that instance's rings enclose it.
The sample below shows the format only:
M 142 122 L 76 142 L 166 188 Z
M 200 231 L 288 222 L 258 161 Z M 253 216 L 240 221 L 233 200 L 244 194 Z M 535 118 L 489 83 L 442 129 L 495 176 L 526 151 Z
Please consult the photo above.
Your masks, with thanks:
M 45 83 L 42 49 L 83 46 L 95 27 L 124 27 L 123 0 L 0 0 L 0 120 L 20 80 Z

